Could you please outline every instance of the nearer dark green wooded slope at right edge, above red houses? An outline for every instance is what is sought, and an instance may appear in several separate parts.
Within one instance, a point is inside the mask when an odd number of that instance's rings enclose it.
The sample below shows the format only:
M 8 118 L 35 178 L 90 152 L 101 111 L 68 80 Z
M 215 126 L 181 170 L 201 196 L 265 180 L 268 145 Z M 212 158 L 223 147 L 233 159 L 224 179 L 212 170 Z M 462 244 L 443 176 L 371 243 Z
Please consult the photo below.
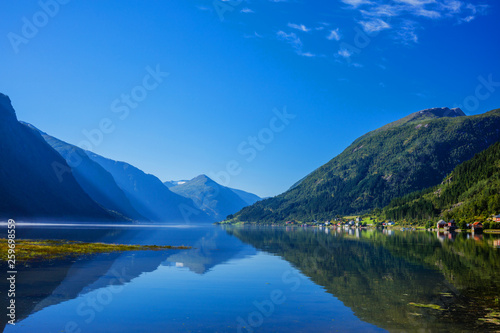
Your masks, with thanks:
M 457 166 L 435 187 L 397 198 L 380 216 L 428 220 L 443 215 L 466 223 L 500 213 L 500 142 Z

